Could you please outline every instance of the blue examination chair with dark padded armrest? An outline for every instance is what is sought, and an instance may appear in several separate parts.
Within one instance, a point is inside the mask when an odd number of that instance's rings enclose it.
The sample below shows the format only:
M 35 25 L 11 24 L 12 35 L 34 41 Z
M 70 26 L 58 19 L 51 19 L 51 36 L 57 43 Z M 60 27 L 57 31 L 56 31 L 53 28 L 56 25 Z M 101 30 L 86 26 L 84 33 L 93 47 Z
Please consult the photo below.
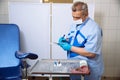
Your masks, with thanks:
M 37 59 L 38 55 L 20 52 L 18 26 L 0 24 L 0 80 L 22 80 L 22 59 L 26 58 Z

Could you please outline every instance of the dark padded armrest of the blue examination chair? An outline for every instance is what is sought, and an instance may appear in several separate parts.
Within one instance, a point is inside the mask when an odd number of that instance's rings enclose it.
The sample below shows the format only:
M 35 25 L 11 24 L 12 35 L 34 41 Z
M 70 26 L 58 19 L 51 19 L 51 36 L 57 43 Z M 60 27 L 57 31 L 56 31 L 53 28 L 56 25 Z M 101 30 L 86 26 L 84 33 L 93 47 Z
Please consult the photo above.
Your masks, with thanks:
M 38 55 L 34 54 L 34 53 L 24 53 L 24 52 L 20 52 L 20 51 L 16 51 L 15 52 L 15 56 L 18 59 L 37 59 Z

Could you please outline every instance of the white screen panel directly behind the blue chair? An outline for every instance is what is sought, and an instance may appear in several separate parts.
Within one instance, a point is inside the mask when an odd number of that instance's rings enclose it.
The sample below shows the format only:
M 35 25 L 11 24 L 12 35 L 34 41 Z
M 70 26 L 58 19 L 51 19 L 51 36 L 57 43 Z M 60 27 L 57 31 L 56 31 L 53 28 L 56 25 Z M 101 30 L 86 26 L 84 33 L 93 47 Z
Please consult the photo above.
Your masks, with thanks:
M 50 58 L 49 4 L 9 3 L 9 23 L 17 24 L 21 30 L 21 49 L 39 55 L 39 59 Z

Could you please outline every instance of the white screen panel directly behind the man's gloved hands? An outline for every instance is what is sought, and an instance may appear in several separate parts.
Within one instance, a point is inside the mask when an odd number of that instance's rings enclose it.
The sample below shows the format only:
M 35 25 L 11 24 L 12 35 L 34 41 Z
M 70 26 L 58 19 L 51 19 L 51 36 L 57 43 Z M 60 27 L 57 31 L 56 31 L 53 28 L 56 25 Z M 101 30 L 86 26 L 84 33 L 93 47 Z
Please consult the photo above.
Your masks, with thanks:
M 72 4 L 53 4 L 52 5 L 52 42 L 58 42 L 58 39 L 66 34 L 72 23 Z M 67 52 L 60 46 L 53 44 L 52 53 L 54 59 L 66 59 Z

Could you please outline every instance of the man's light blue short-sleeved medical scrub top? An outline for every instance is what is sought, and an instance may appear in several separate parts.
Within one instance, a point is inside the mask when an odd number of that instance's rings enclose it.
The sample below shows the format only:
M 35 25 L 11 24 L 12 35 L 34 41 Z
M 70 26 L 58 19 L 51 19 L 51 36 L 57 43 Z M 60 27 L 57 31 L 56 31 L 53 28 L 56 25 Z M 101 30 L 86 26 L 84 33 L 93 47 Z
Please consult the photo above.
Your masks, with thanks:
M 91 18 L 87 18 L 80 26 L 76 27 L 76 24 L 72 24 L 67 35 L 67 38 L 71 38 L 70 42 L 71 45 L 74 43 L 74 38 L 76 36 L 77 30 L 84 35 L 85 39 L 87 40 L 84 44 L 84 49 L 88 52 L 96 54 L 95 58 L 88 58 L 81 55 L 77 55 L 74 57 L 70 57 L 68 54 L 68 59 L 79 59 L 79 60 L 86 60 L 91 69 L 95 69 L 98 71 L 99 74 L 103 73 L 103 59 L 102 59 L 102 30 L 98 26 L 98 24 L 92 20 Z M 82 43 L 84 38 L 81 35 L 77 35 L 76 39 L 78 43 Z M 93 70 L 94 71 L 94 70 Z

